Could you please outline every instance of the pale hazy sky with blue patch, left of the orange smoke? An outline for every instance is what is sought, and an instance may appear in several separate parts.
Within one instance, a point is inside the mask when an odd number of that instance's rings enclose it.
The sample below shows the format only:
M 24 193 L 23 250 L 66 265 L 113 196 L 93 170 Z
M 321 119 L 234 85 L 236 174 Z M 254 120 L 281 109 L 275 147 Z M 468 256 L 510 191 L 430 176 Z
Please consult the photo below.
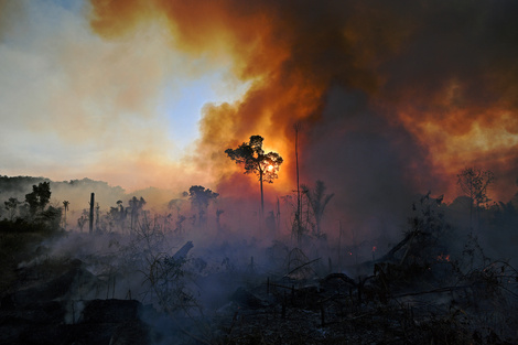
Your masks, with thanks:
M 228 61 L 175 50 L 160 23 L 109 41 L 91 31 L 85 1 L 0 9 L 1 174 L 169 186 L 203 106 L 247 87 Z

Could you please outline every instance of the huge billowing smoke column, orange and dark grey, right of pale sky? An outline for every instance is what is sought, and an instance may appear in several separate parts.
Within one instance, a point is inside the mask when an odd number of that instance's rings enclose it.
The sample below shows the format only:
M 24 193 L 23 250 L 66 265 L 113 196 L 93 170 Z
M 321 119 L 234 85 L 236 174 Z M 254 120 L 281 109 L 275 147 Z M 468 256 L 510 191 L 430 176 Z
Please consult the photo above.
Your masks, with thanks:
M 193 58 L 228 60 L 250 83 L 235 104 L 207 105 L 195 163 L 222 195 L 255 191 L 223 154 L 251 134 L 285 160 L 276 194 L 323 180 L 352 227 L 385 226 L 414 193 L 446 193 L 466 165 L 518 176 L 518 4 L 511 1 L 91 1 L 106 39 L 149 22 Z M 342 215 L 343 216 L 343 215 Z M 336 218 L 342 217 L 336 216 Z

